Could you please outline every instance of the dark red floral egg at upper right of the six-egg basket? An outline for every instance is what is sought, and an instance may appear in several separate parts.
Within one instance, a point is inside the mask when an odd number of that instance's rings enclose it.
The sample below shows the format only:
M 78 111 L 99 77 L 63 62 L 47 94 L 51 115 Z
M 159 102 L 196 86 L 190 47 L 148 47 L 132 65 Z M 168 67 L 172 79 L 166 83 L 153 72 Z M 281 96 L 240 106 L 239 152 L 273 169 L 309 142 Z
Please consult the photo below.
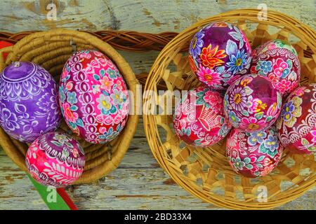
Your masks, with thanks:
M 251 73 L 268 77 L 287 96 L 299 85 L 301 65 L 296 50 L 281 40 L 269 41 L 252 52 Z

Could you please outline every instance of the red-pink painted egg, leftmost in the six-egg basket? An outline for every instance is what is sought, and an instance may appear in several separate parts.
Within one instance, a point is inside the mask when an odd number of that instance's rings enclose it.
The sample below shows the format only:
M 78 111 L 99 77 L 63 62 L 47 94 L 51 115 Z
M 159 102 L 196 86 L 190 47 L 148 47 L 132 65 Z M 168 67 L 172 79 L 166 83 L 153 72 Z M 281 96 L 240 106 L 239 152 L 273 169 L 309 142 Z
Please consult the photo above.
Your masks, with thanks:
M 176 134 L 193 146 L 211 146 L 223 139 L 231 125 L 224 116 L 223 98 L 201 86 L 187 92 L 173 116 Z

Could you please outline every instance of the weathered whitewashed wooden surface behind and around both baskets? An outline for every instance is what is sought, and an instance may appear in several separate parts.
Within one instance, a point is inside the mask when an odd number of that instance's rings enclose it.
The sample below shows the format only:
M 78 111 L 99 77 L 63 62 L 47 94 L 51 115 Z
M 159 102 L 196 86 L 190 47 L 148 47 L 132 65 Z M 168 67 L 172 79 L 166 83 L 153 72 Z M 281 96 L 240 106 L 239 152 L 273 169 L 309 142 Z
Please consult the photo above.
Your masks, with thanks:
M 57 20 L 46 19 L 48 3 L 57 6 Z M 1 31 L 47 30 L 58 27 L 96 31 L 181 31 L 198 20 L 237 8 L 268 8 L 294 16 L 315 29 L 316 1 L 234 0 L 2 0 Z M 121 52 L 135 73 L 145 73 L 157 52 Z M 143 121 L 119 167 L 90 185 L 67 188 L 79 209 L 220 209 L 177 186 L 152 157 Z M 316 188 L 278 209 L 316 209 Z M 46 209 L 32 184 L 0 150 L 0 209 Z

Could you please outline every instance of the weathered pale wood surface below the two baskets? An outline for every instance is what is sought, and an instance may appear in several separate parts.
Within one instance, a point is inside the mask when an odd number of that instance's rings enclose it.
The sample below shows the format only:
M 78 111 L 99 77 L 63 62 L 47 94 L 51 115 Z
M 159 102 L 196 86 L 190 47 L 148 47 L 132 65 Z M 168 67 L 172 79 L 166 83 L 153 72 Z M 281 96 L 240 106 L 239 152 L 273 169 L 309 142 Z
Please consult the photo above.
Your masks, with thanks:
M 220 209 L 176 185 L 147 146 L 143 123 L 119 167 L 96 183 L 67 188 L 79 209 Z M 316 188 L 277 209 L 315 209 Z M 27 176 L 0 151 L 0 209 L 46 209 Z

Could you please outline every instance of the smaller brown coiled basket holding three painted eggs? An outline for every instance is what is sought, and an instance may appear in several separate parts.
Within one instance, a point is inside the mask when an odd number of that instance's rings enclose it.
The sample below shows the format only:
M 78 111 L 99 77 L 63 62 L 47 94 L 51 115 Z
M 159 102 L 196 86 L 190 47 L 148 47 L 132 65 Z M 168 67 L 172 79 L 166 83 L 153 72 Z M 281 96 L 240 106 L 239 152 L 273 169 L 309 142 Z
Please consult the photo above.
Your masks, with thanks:
M 101 41 L 96 36 L 81 31 L 55 29 L 29 34 L 15 43 L 13 47 L 0 50 L 0 56 L 3 52 L 9 52 L 6 62 L 4 62 L 3 57 L 0 57 L 0 71 L 12 62 L 34 62 L 43 66 L 58 81 L 67 59 L 73 52 L 84 49 L 99 50 L 112 59 L 126 80 L 129 90 L 134 93 L 133 102 L 136 102 L 136 85 L 138 84 L 138 80 L 129 64 L 109 44 Z M 134 111 L 136 111 L 136 104 L 133 106 Z M 137 123 L 138 116 L 130 115 L 123 132 L 108 144 L 90 144 L 74 136 L 84 148 L 86 155 L 84 173 L 74 184 L 96 181 L 115 169 L 129 148 L 133 134 L 136 132 Z M 63 120 L 59 130 L 71 133 Z M 0 145 L 18 167 L 27 171 L 25 167 L 27 144 L 22 144 L 10 138 L 0 128 Z

